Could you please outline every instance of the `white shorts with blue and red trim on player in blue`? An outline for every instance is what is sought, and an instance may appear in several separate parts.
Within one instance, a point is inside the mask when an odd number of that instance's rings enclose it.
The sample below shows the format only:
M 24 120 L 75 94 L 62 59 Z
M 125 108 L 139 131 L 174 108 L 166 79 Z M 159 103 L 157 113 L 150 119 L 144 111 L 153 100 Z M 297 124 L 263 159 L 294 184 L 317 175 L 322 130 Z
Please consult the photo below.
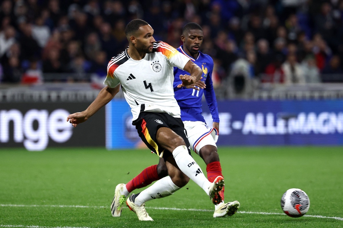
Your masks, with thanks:
M 194 152 L 199 155 L 199 151 L 206 145 L 216 146 L 211 135 L 212 129 L 201 121 L 184 121 L 189 144 Z

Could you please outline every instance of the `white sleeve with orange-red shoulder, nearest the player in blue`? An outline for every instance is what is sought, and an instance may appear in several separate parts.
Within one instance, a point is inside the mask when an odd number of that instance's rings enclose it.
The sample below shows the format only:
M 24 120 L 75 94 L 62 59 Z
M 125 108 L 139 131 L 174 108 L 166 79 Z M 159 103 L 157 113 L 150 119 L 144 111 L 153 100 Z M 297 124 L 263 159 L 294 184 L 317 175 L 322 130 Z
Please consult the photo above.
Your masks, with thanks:
M 188 58 L 186 55 L 181 54 L 178 50 L 176 50 L 176 48 L 165 42 L 155 42 L 154 48 L 157 52 L 161 52 L 164 56 L 166 56 L 168 62 L 173 67 L 178 67 L 183 70 L 186 63 L 190 60 L 190 58 Z

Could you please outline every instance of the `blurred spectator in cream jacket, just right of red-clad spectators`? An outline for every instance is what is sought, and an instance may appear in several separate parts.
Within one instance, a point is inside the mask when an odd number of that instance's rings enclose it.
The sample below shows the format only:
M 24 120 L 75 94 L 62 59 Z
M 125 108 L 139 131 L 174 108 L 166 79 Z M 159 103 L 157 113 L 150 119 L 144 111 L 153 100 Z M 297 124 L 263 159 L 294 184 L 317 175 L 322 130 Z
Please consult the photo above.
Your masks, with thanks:
M 284 84 L 305 84 L 303 69 L 297 62 L 297 57 L 294 53 L 287 55 L 287 60 L 282 64 L 284 72 Z

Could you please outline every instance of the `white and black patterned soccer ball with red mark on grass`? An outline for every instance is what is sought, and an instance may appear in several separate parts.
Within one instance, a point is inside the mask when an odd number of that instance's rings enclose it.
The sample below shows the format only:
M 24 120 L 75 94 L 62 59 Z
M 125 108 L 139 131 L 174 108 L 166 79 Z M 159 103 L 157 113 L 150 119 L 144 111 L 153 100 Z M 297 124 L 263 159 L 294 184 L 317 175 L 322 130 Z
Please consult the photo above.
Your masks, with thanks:
M 281 197 L 281 208 L 286 215 L 297 218 L 308 212 L 310 199 L 298 188 L 288 189 Z

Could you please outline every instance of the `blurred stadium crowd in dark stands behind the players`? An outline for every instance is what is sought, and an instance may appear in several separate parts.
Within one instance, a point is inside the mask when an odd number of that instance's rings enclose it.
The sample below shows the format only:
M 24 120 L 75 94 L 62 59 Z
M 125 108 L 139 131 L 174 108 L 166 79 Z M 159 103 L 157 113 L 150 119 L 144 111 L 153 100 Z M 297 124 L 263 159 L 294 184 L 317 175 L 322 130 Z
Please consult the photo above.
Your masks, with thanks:
M 343 82 L 342 0 L 3 0 L 0 82 L 102 79 L 128 45 L 125 26 L 135 18 L 175 48 L 186 23 L 201 25 L 214 86 L 230 78 Z

